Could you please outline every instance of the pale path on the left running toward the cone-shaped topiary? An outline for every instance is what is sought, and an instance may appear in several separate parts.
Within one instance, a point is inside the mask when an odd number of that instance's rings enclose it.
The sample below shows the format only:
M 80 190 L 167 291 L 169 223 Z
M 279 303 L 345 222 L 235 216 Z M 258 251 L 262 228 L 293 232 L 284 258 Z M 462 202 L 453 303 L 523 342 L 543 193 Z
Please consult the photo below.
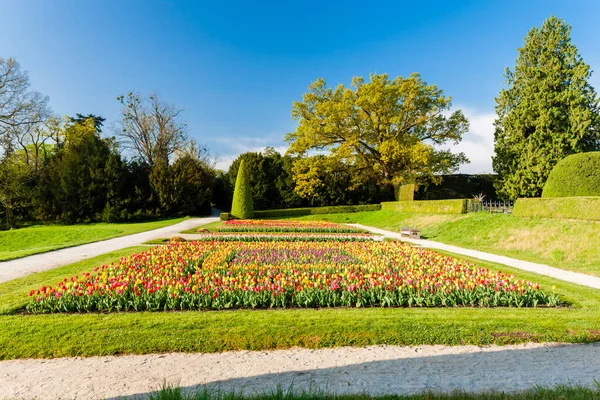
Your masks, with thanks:
M 85 260 L 86 258 L 96 257 L 111 251 L 116 251 L 131 246 L 138 246 L 148 240 L 172 237 L 178 235 L 179 232 L 183 230 L 191 229 L 198 225 L 208 224 L 218 220 L 219 217 L 214 216 L 213 212 L 213 215 L 210 217 L 190 218 L 164 228 L 102 240 L 100 242 L 83 244 L 75 247 L 68 247 L 47 253 L 35 254 L 28 257 L 17 258 L 16 260 L 3 261 L 0 262 L 0 283 L 27 276 L 34 272 L 46 271 L 62 265 Z

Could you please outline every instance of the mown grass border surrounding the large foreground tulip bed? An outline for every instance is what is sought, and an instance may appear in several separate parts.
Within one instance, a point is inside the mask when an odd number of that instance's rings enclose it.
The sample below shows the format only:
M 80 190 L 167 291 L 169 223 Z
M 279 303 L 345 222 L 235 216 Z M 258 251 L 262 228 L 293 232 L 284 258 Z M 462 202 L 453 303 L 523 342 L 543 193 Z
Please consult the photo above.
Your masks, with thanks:
M 22 313 L 28 292 L 148 247 L 0 284 L 0 359 L 219 352 L 294 346 L 486 345 L 600 341 L 600 291 L 486 262 L 539 282 L 562 308 L 323 308 L 111 314 Z M 556 289 L 553 289 L 556 285 Z

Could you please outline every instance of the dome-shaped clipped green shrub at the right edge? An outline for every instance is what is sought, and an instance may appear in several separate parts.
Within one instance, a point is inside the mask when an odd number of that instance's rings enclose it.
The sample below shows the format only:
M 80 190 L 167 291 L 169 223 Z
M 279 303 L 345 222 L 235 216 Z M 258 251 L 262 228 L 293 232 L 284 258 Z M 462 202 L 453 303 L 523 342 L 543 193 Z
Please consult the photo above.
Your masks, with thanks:
M 542 197 L 600 196 L 600 151 L 570 155 L 558 162 Z

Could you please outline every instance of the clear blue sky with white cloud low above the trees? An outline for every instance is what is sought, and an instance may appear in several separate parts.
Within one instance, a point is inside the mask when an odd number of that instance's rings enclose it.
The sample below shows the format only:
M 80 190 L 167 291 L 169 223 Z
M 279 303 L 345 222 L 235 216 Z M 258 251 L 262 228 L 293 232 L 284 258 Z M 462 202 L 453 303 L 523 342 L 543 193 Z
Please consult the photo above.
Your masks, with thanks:
M 595 0 L 0 0 L 0 57 L 17 58 L 60 115 L 110 123 L 118 95 L 160 93 L 184 109 L 190 136 L 221 168 L 244 151 L 284 151 L 292 101 L 319 77 L 333 86 L 416 71 L 471 120 L 457 150 L 472 163 L 461 171 L 491 172 L 504 68 L 552 14 L 572 25 L 584 60 L 600 69 Z

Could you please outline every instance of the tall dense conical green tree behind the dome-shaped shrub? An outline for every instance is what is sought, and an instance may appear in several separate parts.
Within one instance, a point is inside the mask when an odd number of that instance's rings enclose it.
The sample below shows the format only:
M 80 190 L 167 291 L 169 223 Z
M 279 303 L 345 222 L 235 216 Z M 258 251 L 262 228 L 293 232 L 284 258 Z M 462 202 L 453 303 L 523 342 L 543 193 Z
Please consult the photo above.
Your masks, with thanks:
M 598 98 L 571 27 L 550 17 L 518 49 L 496 98 L 494 171 L 507 198 L 539 196 L 550 171 L 572 153 L 600 148 Z

